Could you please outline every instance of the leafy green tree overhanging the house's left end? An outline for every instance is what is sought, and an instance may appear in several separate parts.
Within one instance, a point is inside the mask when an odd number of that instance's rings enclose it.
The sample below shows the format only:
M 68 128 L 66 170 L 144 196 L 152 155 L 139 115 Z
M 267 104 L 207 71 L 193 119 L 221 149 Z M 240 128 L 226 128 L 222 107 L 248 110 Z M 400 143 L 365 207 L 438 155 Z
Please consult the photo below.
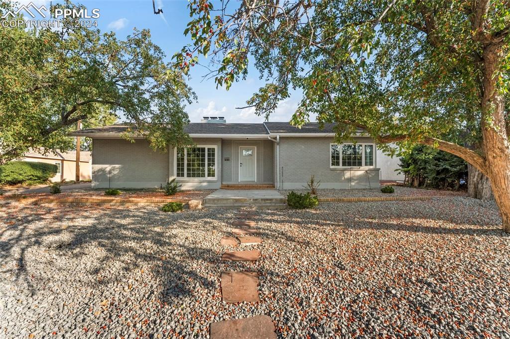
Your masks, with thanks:
M 0 2 L 0 13 L 11 6 Z M 132 123 L 126 138 L 141 134 L 155 149 L 188 143 L 184 104 L 194 94 L 150 33 L 118 40 L 71 20 L 58 30 L 0 25 L 0 164 L 29 148 L 68 150 L 78 121 L 114 116 Z

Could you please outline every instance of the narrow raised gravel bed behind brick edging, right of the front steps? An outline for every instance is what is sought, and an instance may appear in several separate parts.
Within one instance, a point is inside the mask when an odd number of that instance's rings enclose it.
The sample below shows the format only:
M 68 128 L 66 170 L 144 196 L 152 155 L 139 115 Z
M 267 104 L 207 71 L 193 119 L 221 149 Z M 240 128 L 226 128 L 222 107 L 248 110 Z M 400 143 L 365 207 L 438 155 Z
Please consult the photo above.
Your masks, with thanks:
M 332 197 L 373 197 L 373 196 L 466 196 L 466 191 L 447 191 L 439 189 L 422 189 L 406 186 L 393 186 L 394 193 L 382 193 L 377 189 L 321 189 L 317 190 L 317 196 L 321 198 Z M 280 190 L 282 195 L 287 196 L 291 190 Z M 310 189 L 294 189 L 296 193 L 307 193 Z

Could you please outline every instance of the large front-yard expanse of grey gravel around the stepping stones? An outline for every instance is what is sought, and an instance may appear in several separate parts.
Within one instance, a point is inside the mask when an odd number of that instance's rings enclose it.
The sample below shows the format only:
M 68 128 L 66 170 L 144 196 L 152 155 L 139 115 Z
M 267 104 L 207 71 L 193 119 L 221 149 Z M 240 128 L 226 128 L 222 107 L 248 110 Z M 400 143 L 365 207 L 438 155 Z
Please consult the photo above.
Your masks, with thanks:
M 466 197 L 253 211 L 257 262 L 221 262 L 236 210 L 0 205 L 0 337 L 208 337 L 267 314 L 278 337 L 510 337 L 510 236 Z M 259 272 L 260 303 L 221 300 Z

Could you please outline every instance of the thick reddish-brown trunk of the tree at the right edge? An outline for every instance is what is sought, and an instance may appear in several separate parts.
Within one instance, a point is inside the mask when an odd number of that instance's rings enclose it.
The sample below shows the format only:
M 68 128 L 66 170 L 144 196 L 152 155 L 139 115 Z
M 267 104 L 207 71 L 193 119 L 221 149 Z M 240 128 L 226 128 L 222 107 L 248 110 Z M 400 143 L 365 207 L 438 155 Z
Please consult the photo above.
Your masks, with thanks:
M 496 84 L 501 58 L 500 45 L 484 47 L 482 148 L 494 199 L 501 212 L 503 231 L 510 233 L 510 140 L 506 130 L 504 97 Z

